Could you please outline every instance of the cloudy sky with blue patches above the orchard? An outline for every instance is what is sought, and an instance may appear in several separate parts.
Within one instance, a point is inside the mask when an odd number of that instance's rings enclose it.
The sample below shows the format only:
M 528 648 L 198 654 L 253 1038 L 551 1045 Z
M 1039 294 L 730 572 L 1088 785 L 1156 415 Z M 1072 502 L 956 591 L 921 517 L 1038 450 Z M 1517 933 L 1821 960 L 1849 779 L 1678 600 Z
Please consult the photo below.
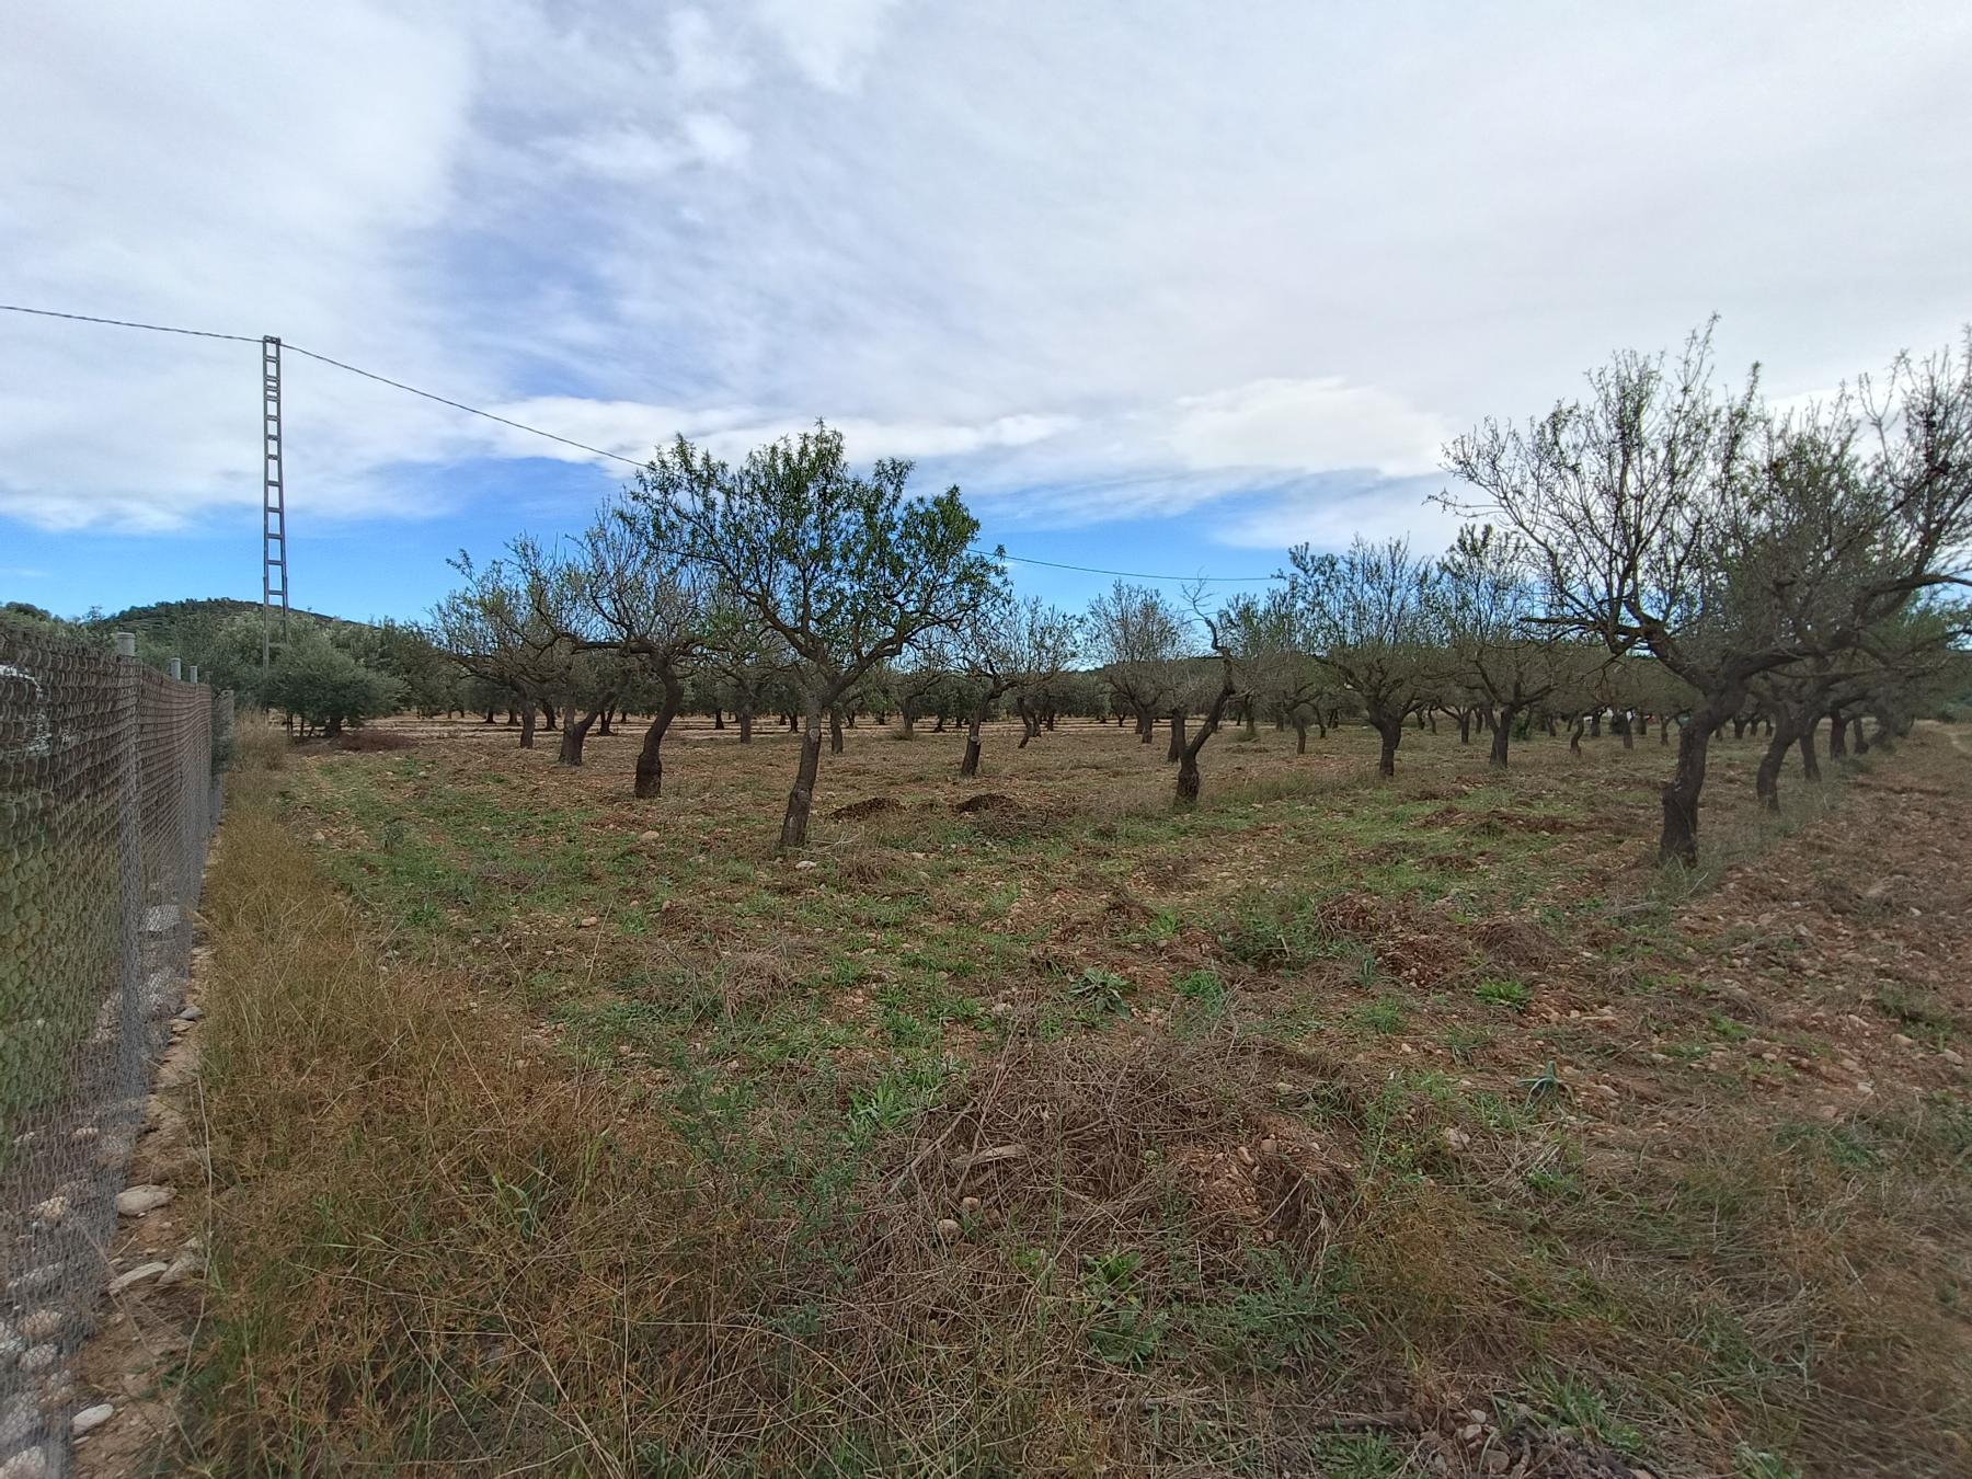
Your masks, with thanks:
M 826 418 L 1016 556 L 1264 580 L 1447 542 L 1447 438 L 1710 314 L 1775 396 L 1948 343 L 1968 75 L 1962 0 L 12 0 L 0 302 L 627 458 Z M 258 361 L 0 312 L 0 599 L 256 599 Z M 317 611 L 629 471 L 282 388 Z

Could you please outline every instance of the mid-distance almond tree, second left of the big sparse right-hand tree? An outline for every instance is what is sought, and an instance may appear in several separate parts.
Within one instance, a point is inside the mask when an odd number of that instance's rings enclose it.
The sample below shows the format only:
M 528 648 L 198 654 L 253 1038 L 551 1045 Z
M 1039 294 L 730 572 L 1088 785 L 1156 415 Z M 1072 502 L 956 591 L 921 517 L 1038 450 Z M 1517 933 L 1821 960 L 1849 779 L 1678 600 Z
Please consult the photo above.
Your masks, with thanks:
M 1382 738 L 1378 775 L 1396 775 L 1404 720 L 1432 702 L 1445 669 L 1440 645 L 1438 572 L 1410 552 L 1410 540 L 1371 544 L 1361 536 L 1341 554 L 1288 550 L 1290 599 L 1305 623 L 1309 657 L 1363 702 Z

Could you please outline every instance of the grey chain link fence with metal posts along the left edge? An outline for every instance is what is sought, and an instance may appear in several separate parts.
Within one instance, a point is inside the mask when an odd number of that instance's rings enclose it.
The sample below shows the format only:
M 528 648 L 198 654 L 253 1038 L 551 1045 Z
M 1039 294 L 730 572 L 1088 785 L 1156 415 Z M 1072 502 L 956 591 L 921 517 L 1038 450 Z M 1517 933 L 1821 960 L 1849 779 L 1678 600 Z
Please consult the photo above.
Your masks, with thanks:
M 205 684 L 0 623 L 0 1479 L 67 1469 L 227 720 Z

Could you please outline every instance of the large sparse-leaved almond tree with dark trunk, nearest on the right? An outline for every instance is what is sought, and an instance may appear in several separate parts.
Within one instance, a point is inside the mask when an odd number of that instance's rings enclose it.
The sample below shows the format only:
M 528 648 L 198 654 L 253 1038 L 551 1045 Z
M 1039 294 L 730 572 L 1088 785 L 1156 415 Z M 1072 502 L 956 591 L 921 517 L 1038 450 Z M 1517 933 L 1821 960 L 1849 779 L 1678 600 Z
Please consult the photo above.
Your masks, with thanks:
M 1753 684 L 1962 584 L 1972 337 L 1781 422 L 1751 375 L 1714 392 L 1710 325 L 1674 363 L 1619 353 L 1587 383 L 1526 426 L 1481 424 L 1445 465 L 1479 491 L 1469 511 L 1534 550 L 1546 619 L 1647 651 L 1694 688 L 1658 840 L 1664 862 L 1694 864 L 1708 745 Z

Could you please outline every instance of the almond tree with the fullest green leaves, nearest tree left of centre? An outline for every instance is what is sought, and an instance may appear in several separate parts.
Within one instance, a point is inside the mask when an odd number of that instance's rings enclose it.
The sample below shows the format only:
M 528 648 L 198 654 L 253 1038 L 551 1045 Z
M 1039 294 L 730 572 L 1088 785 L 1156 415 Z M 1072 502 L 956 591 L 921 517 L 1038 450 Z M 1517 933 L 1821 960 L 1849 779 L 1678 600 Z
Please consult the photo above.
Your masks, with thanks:
M 657 542 L 698 562 L 722 599 L 789 647 L 807 730 L 781 848 L 809 836 L 828 712 L 872 667 L 966 621 L 1000 584 L 998 564 L 970 550 L 978 521 L 958 489 L 907 497 L 909 475 L 893 458 L 852 473 L 842 434 L 816 424 L 738 467 L 680 436 L 631 489 Z

